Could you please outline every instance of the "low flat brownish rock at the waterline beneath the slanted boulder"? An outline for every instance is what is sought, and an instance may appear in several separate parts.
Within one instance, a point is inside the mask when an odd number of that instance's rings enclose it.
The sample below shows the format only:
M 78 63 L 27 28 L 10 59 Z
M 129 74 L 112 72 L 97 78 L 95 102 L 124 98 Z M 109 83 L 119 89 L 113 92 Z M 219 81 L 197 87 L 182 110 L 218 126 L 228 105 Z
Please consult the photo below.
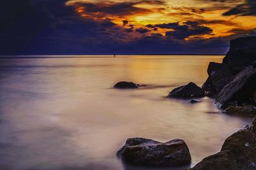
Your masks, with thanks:
M 253 105 L 230 106 L 225 110 L 225 113 L 255 116 L 256 106 L 253 106 Z

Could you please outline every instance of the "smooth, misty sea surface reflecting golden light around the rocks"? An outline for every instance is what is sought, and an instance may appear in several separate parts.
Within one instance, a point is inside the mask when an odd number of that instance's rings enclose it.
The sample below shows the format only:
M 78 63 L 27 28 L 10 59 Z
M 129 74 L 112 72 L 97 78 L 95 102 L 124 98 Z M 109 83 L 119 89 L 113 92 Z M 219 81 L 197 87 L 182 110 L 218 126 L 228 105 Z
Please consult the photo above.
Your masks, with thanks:
M 202 85 L 209 61 L 222 58 L 2 58 L 0 169 L 152 169 L 116 158 L 116 151 L 132 137 L 184 139 L 193 166 L 252 121 L 221 113 L 207 97 L 196 104 L 165 97 L 190 81 Z M 148 86 L 112 89 L 122 80 Z

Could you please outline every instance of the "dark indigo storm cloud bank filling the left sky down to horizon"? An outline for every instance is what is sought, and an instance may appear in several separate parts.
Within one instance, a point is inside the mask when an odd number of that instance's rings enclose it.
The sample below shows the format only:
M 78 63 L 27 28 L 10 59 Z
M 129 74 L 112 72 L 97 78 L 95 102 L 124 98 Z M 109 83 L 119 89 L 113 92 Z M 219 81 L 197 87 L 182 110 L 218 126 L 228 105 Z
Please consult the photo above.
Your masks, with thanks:
M 74 10 L 74 6 L 65 6 L 66 1 L 1 2 L 0 54 L 225 53 L 227 51 L 230 37 L 195 38 L 184 41 L 184 38 L 189 36 L 211 34 L 211 29 L 200 25 L 202 24 L 200 22 L 148 25 L 148 29 L 144 27 L 136 29 L 134 25 L 127 23 L 125 24 L 127 28 L 124 28 L 106 17 L 100 20 L 83 18 Z M 162 1 L 135 3 L 149 2 L 163 4 Z M 131 7 L 131 4 L 128 6 Z M 124 10 L 126 7 L 125 5 L 123 7 Z M 130 7 L 127 9 L 138 11 L 137 7 Z M 100 9 L 104 10 L 101 7 Z M 99 8 L 94 10 L 98 11 Z M 167 36 L 159 33 L 150 34 L 151 30 L 157 28 L 170 29 L 171 32 L 166 32 Z M 131 37 L 131 32 L 135 29 L 142 34 L 141 38 Z M 234 36 L 240 33 L 241 31 L 236 31 Z

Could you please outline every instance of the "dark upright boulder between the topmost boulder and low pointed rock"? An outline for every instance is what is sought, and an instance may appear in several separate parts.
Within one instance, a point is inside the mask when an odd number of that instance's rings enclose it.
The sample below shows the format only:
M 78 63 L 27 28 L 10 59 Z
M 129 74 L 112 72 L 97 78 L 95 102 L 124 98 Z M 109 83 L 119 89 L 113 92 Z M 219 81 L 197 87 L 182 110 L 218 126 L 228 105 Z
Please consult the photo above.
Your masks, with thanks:
M 227 64 L 210 62 L 207 73 L 209 77 L 202 85 L 202 89 L 211 92 L 220 92 L 225 85 L 234 79 L 234 74 Z

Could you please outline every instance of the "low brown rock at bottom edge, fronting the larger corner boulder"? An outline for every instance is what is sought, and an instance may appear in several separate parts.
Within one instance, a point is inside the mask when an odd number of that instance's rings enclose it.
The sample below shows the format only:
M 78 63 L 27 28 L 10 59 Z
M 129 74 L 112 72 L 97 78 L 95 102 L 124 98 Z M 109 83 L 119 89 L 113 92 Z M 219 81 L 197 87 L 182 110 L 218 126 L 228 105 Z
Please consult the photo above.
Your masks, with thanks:
M 233 153 L 223 151 L 206 157 L 191 170 L 239 170 Z

